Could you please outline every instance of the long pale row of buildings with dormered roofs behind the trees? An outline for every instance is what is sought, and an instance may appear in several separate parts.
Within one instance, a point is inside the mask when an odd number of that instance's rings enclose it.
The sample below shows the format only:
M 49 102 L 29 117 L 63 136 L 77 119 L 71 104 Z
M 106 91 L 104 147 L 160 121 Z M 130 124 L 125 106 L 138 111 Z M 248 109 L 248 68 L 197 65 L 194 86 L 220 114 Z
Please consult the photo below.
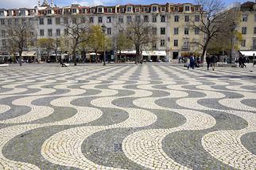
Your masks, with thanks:
M 106 25 L 107 36 L 117 37 L 120 25 L 126 25 L 130 21 L 149 22 L 153 26 L 153 33 L 159 39 L 142 52 L 145 59 L 153 61 L 162 60 L 172 62 L 180 56 L 200 53 L 198 46 L 192 46 L 191 42 L 204 41 L 204 33 L 192 29 L 189 21 L 199 21 L 200 6 L 190 3 L 184 4 L 150 4 L 124 6 L 71 6 L 58 7 L 53 2 L 46 0 L 33 9 L 0 9 L 0 51 L 6 54 L 6 25 L 18 19 L 31 20 L 36 28 L 35 35 L 40 38 L 56 38 L 66 36 L 64 18 L 77 16 L 77 22 L 86 25 Z M 151 46 L 151 45 L 150 45 Z M 25 50 L 36 50 L 30 47 Z M 115 51 L 115 47 L 113 46 Z M 134 49 L 126 49 L 126 52 Z M 40 53 L 40 49 L 38 50 Z M 123 51 L 125 53 L 125 51 Z

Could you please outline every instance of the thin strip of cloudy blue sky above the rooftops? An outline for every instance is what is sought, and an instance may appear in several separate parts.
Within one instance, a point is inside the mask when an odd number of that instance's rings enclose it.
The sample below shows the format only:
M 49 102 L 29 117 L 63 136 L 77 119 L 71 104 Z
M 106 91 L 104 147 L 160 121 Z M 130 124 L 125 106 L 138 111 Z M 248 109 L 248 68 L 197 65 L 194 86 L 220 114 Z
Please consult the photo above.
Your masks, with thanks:
M 41 0 L 41 3 L 44 0 Z M 50 1 L 50 0 L 48 0 Z M 169 3 L 184 3 L 190 2 L 195 3 L 195 0 L 53 0 L 54 4 L 57 6 L 69 6 L 72 3 L 79 3 L 81 6 L 114 6 L 117 4 L 123 5 L 127 3 L 131 4 L 151 4 L 151 3 L 159 3 L 165 4 L 166 2 Z M 223 0 L 226 5 L 232 2 L 246 2 L 246 0 Z M 0 0 L 0 9 L 11 9 L 11 8 L 21 8 L 21 7 L 29 7 L 33 8 L 37 6 L 38 0 Z

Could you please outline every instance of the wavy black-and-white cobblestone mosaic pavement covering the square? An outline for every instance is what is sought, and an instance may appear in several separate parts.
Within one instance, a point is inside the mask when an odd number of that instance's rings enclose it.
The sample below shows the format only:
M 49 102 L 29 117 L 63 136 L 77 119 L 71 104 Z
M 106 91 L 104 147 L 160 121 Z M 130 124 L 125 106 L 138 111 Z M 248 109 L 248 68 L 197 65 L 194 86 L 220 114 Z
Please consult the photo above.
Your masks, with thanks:
M 256 169 L 256 68 L 0 73 L 0 169 Z

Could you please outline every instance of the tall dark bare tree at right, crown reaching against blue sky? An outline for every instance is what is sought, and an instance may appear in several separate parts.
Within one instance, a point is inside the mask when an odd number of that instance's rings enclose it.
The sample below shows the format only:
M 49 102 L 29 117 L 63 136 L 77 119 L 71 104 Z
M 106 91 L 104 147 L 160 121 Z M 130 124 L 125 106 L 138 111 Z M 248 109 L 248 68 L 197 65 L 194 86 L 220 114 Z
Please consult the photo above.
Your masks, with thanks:
M 225 17 L 221 12 L 223 11 L 224 3 L 222 0 L 196 0 L 196 5 L 201 7 L 198 11 L 200 18 L 192 18 L 190 20 L 190 27 L 204 32 L 205 38 L 203 43 L 192 43 L 202 47 L 203 52 L 201 58 L 204 59 L 210 40 L 222 31 Z

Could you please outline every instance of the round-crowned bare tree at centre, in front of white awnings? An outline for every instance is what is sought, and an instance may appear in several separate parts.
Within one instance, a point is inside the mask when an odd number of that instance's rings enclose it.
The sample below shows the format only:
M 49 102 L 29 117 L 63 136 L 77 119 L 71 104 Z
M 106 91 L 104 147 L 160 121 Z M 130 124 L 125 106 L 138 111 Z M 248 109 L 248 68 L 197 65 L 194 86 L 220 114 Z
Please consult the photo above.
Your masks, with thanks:
M 149 22 L 134 21 L 129 22 L 125 28 L 126 38 L 132 43 L 136 50 L 135 63 L 142 58 L 142 49 L 157 41 L 157 36 L 153 35 L 153 28 Z

